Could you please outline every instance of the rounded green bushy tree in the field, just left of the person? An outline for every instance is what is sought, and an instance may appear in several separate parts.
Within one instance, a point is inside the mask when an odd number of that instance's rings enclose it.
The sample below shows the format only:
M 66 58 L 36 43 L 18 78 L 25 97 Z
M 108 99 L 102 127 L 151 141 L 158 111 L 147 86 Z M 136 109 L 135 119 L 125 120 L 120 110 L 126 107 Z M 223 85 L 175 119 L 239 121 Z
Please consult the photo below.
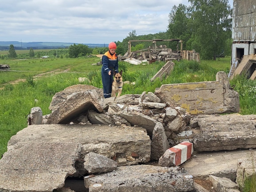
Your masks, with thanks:
M 91 53 L 91 49 L 87 45 L 83 44 L 74 44 L 70 45 L 68 48 L 68 54 L 70 58 L 77 58 L 77 57 L 83 57 L 87 53 Z

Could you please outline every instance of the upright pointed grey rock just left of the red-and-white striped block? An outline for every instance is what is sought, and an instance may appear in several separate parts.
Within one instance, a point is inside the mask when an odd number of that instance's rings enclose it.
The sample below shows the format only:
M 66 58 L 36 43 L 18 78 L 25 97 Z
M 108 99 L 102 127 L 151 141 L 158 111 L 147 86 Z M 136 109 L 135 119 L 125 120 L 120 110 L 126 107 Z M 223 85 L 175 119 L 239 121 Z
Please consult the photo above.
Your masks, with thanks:
M 151 141 L 151 157 L 152 161 L 158 161 L 164 155 L 164 152 L 169 149 L 169 142 L 164 132 L 162 123 L 157 122 L 154 127 Z

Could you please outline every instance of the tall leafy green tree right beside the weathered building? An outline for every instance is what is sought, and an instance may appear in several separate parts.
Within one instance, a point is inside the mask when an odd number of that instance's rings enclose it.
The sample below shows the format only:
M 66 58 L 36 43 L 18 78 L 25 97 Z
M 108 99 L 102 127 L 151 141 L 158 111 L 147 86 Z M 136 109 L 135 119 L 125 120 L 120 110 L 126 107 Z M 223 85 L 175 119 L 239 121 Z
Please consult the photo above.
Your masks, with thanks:
M 189 0 L 191 29 L 204 59 L 216 60 L 230 38 L 232 9 L 228 0 Z

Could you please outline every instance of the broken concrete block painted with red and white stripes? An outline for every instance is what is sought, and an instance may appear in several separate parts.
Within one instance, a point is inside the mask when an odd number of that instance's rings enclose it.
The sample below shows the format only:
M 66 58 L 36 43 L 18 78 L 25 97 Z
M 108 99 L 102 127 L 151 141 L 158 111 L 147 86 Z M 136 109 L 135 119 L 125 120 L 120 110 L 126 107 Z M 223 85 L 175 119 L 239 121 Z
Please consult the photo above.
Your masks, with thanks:
M 167 149 L 164 155 L 160 157 L 158 164 L 164 167 L 179 166 L 191 157 L 193 151 L 193 144 L 183 141 L 180 144 Z

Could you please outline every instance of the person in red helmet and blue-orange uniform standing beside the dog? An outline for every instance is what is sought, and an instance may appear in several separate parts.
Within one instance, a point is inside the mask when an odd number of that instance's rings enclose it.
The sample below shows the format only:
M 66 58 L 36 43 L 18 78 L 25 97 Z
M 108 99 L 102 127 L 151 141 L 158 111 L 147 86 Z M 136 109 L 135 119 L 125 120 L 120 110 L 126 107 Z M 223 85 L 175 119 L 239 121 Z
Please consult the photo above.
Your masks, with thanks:
M 116 54 L 116 44 L 114 42 L 109 43 L 109 51 L 102 57 L 101 78 L 103 84 L 104 98 L 111 97 L 112 83 L 113 83 L 113 71 L 118 72 L 118 58 Z

